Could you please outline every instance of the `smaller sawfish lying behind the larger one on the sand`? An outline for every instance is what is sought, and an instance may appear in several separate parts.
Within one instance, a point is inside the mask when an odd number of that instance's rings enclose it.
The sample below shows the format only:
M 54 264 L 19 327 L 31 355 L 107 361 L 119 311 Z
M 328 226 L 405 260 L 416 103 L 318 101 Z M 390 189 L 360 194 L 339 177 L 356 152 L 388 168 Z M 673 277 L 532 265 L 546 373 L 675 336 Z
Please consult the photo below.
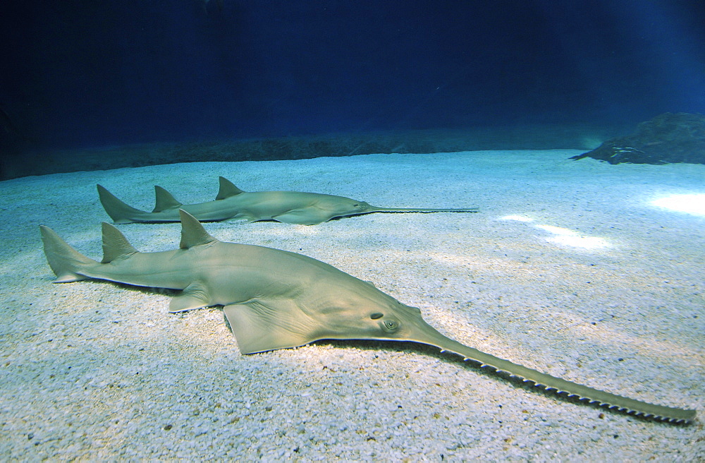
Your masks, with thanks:
M 183 209 L 202 222 L 221 220 L 276 220 L 287 224 L 315 225 L 336 217 L 371 214 L 372 212 L 477 212 L 470 209 L 378 208 L 364 201 L 343 196 L 302 191 L 240 190 L 231 181 L 219 177 L 220 188 L 216 199 L 207 203 L 184 205 L 161 186 L 154 186 L 157 204 L 152 212 L 145 212 L 123 203 L 104 186 L 98 185 L 100 202 L 116 224 L 131 222 L 178 222 Z

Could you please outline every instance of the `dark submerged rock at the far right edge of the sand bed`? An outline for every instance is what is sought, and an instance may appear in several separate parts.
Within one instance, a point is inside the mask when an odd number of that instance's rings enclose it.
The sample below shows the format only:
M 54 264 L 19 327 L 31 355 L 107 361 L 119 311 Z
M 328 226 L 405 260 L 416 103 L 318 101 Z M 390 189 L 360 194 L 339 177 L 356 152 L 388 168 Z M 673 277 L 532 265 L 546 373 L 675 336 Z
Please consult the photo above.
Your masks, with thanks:
M 705 164 L 705 116 L 703 114 L 659 114 L 637 126 L 625 137 L 615 137 L 592 151 L 570 159 L 592 157 L 610 164 Z

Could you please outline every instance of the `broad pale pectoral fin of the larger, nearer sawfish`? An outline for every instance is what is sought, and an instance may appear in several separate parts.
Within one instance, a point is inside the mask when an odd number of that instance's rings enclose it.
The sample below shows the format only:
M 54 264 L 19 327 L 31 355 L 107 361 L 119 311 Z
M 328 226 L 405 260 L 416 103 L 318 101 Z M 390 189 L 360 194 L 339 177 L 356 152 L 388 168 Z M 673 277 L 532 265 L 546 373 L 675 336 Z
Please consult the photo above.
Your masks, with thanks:
M 287 307 L 271 307 L 257 301 L 223 307 L 230 328 L 243 354 L 298 347 L 315 341 L 312 323 L 290 301 L 278 301 Z M 294 310 L 292 310 L 294 309 Z

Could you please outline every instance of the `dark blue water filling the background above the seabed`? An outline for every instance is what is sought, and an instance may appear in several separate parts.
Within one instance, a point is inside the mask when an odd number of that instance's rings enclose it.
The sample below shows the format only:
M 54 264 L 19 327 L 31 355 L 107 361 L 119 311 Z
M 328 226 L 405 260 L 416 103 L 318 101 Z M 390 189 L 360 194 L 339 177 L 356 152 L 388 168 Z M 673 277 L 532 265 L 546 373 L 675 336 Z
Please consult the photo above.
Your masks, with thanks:
M 4 0 L 0 22 L 3 140 L 44 148 L 705 112 L 701 0 Z

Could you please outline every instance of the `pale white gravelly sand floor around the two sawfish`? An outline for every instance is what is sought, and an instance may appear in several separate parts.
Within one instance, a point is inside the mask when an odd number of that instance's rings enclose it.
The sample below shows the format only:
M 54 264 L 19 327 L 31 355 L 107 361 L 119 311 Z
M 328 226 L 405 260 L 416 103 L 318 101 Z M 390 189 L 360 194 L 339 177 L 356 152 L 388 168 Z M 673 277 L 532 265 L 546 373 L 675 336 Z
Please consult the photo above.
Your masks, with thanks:
M 705 216 L 651 201 L 705 194 L 705 165 L 566 160 L 575 154 L 203 162 L 1 182 L 1 458 L 701 461 L 701 421 L 575 404 L 423 346 L 319 342 L 241 356 L 221 308 L 173 315 L 159 292 L 51 284 L 37 230 L 100 258 L 107 216 L 95 184 L 152 210 L 154 184 L 196 203 L 214 198 L 219 175 L 248 191 L 477 206 L 206 227 L 371 280 L 496 356 L 702 416 Z M 121 230 L 142 251 L 178 245 L 178 224 Z

